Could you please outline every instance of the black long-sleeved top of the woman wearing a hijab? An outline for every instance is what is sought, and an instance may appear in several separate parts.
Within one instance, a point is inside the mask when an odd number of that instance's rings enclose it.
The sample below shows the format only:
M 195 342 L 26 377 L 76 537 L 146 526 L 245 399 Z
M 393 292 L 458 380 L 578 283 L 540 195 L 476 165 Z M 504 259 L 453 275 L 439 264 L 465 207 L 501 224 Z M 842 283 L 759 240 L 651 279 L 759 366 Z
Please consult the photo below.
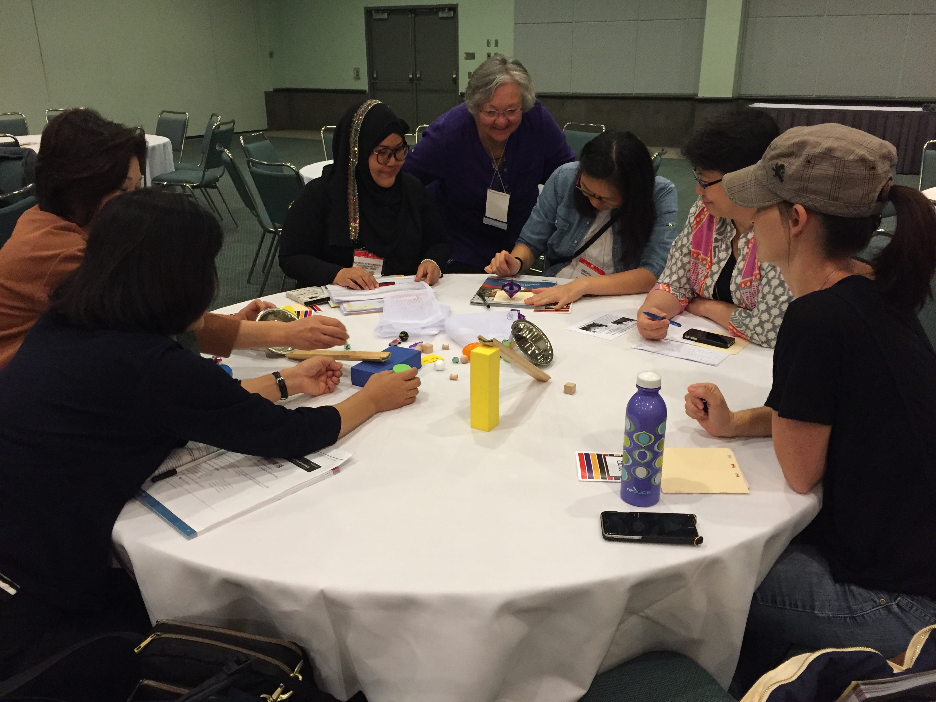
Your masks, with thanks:
M 422 237 L 397 241 L 384 259 L 384 275 L 413 275 L 424 258 L 444 267 L 452 247 L 442 215 L 417 178 L 402 171 L 397 178 L 402 179 L 406 188 L 410 212 L 417 220 L 415 230 Z M 347 207 L 344 201 L 340 205 Z M 366 241 L 351 241 L 347 237 L 344 241 L 329 241 L 331 207 L 325 179 L 316 178 L 302 188 L 286 214 L 280 240 L 280 268 L 300 286 L 333 283 L 338 271 L 353 265 L 355 249 L 367 246 Z

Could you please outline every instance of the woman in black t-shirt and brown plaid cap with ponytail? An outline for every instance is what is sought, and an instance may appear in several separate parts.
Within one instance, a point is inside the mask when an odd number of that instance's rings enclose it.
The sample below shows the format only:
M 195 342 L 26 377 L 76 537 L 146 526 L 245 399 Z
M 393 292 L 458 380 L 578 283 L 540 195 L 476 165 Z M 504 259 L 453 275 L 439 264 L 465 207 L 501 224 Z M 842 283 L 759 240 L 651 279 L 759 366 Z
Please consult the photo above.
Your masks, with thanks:
M 754 593 L 746 642 L 893 656 L 936 623 L 936 353 L 915 315 L 936 271 L 936 213 L 891 183 L 896 162 L 882 139 L 818 124 L 724 176 L 728 197 L 757 208 L 758 256 L 795 300 L 766 406 L 731 412 L 699 384 L 686 413 L 715 436 L 772 435 L 790 487 L 824 490 L 819 515 Z M 856 274 L 852 256 L 886 200 L 897 230 L 873 276 Z

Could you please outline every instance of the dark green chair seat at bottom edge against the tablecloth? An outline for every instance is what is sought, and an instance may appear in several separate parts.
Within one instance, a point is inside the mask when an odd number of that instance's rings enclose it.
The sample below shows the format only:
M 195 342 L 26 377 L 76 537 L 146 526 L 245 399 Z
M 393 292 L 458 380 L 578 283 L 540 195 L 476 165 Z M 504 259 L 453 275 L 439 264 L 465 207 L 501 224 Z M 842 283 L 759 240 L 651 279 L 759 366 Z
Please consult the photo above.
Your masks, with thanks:
M 578 702 L 737 701 L 691 658 L 653 651 L 595 677 Z

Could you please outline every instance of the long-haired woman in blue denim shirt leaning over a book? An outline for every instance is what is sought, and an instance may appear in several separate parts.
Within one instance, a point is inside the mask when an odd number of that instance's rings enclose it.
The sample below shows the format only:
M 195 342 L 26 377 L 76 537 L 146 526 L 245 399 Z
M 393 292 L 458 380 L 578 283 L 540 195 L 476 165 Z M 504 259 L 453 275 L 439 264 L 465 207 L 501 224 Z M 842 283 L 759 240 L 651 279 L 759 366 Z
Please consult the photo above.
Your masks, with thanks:
M 643 142 L 630 132 L 603 132 L 578 163 L 549 176 L 513 251 L 494 256 L 485 271 L 517 275 L 545 254 L 543 274 L 571 281 L 528 298 L 533 305 L 646 292 L 664 269 L 676 218 L 676 187 L 653 177 Z

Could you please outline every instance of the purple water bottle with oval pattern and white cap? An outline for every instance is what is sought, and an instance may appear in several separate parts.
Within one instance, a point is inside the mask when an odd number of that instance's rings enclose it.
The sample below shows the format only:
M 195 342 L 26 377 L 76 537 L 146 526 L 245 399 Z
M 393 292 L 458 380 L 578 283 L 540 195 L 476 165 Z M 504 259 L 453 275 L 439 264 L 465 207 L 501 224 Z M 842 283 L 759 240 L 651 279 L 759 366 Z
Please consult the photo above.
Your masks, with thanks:
M 637 391 L 627 402 L 621 466 L 621 499 L 650 507 L 660 501 L 666 403 L 660 397 L 660 374 L 637 374 Z

